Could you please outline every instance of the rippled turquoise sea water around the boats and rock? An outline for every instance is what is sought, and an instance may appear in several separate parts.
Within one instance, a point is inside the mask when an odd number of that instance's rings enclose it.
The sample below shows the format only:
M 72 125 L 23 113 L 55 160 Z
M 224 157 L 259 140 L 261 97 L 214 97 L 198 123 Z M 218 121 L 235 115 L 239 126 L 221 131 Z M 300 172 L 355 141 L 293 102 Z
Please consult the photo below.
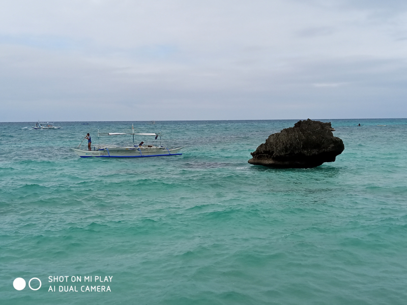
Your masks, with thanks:
M 407 119 L 331 121 L 345 150 L 313 169 L 247 163 L 296 120 L 1 123 L 0 303 L 406 304 Z M 136 159 L 68 149 L 132 123 L 188 146 Z M 96 285 L 85 276 L 112 277 L 98 284 L 111 292 L 81 292 Z

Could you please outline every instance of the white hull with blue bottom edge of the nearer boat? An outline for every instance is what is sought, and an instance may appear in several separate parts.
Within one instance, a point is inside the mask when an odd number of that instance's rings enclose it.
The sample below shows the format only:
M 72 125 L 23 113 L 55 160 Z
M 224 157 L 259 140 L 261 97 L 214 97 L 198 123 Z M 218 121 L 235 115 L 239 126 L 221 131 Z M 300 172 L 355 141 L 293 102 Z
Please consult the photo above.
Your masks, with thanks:
M 131 147 L 131 146 L 110 146 L 101 147 L 97 150 L 84 150 L 71 148 L 81 158 L 105 157 L 105 158 L 142 158 L 160 156 L 179 156 L 178 152 L 185 146 L 180 147 Z

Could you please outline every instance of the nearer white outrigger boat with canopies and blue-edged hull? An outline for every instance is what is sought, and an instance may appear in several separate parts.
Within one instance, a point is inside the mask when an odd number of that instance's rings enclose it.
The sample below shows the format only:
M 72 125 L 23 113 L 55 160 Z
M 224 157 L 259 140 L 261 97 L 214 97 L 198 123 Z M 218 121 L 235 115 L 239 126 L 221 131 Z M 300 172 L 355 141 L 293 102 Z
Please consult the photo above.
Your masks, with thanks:
M 115 146 L 115 145 L 95 145 L 93 150 L 84 150 L 78 148 L 71 148 L 81 158 L 87 157 L 107 157 L 107 158 L 142 158 L 142 157 L 160 157 L 160 156 L 180 156 L 178 152 L 185 146 L 167 147 L 161 145 L 161 133 L 99 133 L 99 136 L 119 136 L 119 135 L 132 135 L 133 145 Z M 160 137 L 160 146 L 155 145 L 136 145 L 134 144 L 134 136 L 153 136 L 157 140 Z M 83 140 L 82 140 L 83 142 Z

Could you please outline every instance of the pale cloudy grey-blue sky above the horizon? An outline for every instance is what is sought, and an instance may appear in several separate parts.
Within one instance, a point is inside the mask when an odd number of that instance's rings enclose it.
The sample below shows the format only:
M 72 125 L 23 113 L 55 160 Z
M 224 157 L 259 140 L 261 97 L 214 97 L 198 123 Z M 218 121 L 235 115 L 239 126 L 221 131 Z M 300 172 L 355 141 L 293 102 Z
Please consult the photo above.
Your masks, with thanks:
M 407 117 L 407 1 L 0 0 L 0 121 Z

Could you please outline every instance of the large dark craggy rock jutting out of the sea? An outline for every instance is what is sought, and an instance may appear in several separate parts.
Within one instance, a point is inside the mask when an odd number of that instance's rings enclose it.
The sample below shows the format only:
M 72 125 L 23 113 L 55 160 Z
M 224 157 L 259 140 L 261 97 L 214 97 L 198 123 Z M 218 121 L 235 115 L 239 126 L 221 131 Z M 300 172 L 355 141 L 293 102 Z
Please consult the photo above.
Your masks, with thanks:
M 345 146 L 334 137 L 331 123 L 300 120 L 294 127 L 272 134 L 249 160 L 253 165 L 276 168 L 309 168 L 334 162 Z

